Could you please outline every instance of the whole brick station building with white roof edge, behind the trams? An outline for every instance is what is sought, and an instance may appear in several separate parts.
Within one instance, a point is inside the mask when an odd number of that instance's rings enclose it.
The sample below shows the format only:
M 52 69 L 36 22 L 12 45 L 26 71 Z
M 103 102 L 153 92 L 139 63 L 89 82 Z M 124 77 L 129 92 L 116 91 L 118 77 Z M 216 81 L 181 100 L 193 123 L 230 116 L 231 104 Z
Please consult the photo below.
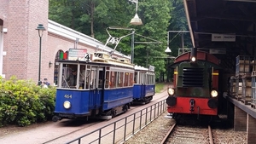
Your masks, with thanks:
M 32 79 L 38 82 L 48 78 L 55 83 L 56 60 L 68 49 L 110 52 L 113 49 L 95 38 L 76 32 L 48 19 L 48 0 L 0 0 L 0 76 Z M 38 24 L 45 28 L 38 36 Z M 41 47 L 41 62 L 39 49 Z M 123 56 L 119 52 L 114 55 Z M 127 57 L 129 58 L 129 57 Z

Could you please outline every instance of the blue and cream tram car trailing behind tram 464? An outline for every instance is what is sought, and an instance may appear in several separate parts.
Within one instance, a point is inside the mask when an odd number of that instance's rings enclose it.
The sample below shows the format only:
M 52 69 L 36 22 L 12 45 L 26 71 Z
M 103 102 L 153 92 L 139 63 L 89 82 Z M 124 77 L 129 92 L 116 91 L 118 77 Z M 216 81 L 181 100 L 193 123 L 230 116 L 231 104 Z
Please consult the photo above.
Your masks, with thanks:
M 133 103 L 146 104 L 153 99 L 155 92 L 154 66 L 134 66 L 134 69 Z

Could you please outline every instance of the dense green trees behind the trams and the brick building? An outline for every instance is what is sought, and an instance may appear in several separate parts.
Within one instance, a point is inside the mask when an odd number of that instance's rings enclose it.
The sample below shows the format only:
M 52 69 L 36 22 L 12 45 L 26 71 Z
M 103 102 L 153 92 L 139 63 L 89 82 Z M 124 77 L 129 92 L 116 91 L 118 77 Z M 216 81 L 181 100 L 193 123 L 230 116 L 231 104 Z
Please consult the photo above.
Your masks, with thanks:
M 128 0 L 49 0 L 49 19 L 76 31 L 96 37 L 106 42 L 108 26 L 131 27 L 136 33 L 135 42 L 148 42 L 150 37 L 162 44 L 135 44 L 134 63 L 140 66 L 155 66 L 157 77 L 165 72 L 166 31 L 172 14 L 170 0 L 139 0 L 138 15 L 143 26 L 131 26 L 130 20 L 136 12 L 136 3 Z M 114 31 L 114 37 L 121 37 L 129 32 Z M 150 40 L 149 40 L 150 41 Z M 114 47 L 109 45 L 110 47 Z M 131 54 L 131 37 L 124 37 L 116 50 L 125 55 Z M 147 56 L 148 54 L 148 56 Z M 146 61 L 146 62 L 145 62 Z

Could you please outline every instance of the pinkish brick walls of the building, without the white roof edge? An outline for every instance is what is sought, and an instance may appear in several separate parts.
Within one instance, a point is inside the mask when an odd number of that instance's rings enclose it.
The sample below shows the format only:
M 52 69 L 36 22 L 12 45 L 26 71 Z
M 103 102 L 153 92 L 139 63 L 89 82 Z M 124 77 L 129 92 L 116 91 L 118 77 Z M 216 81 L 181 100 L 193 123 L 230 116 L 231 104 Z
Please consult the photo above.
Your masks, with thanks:
M 8 28 L 3 38 L 3 51 L 7 53 L 3 56 L 5 78 L 15 75 L 19 79 L 38 82 L 40 38 L 36 28 L 43 24 L 46 31 L 41 45 L 41 80 L 48 78 L 53 84 L 55 56 L 59 50 L 65 52 L 74 48 L 75 40 L 47 32 L 48 0 L 0 0 L 0 3 L 0 19 L 3 27 Z M 79 43 L 77 48 L 95 51 L 84 43 Z M 51 67 L 49 61 L 53 63 Z

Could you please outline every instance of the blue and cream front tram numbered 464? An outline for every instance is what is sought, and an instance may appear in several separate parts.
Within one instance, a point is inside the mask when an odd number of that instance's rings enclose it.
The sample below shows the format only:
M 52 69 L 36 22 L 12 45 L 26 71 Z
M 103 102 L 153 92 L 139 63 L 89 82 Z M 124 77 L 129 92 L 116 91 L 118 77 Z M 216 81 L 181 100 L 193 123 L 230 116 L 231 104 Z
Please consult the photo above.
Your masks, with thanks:
M 96 52 L 84 60 L 59 60 L 53 121 L 108 119 L 126 112 L 133 100 L 134 65 Z M 70 75 L 73 78 L 70 78 Z

